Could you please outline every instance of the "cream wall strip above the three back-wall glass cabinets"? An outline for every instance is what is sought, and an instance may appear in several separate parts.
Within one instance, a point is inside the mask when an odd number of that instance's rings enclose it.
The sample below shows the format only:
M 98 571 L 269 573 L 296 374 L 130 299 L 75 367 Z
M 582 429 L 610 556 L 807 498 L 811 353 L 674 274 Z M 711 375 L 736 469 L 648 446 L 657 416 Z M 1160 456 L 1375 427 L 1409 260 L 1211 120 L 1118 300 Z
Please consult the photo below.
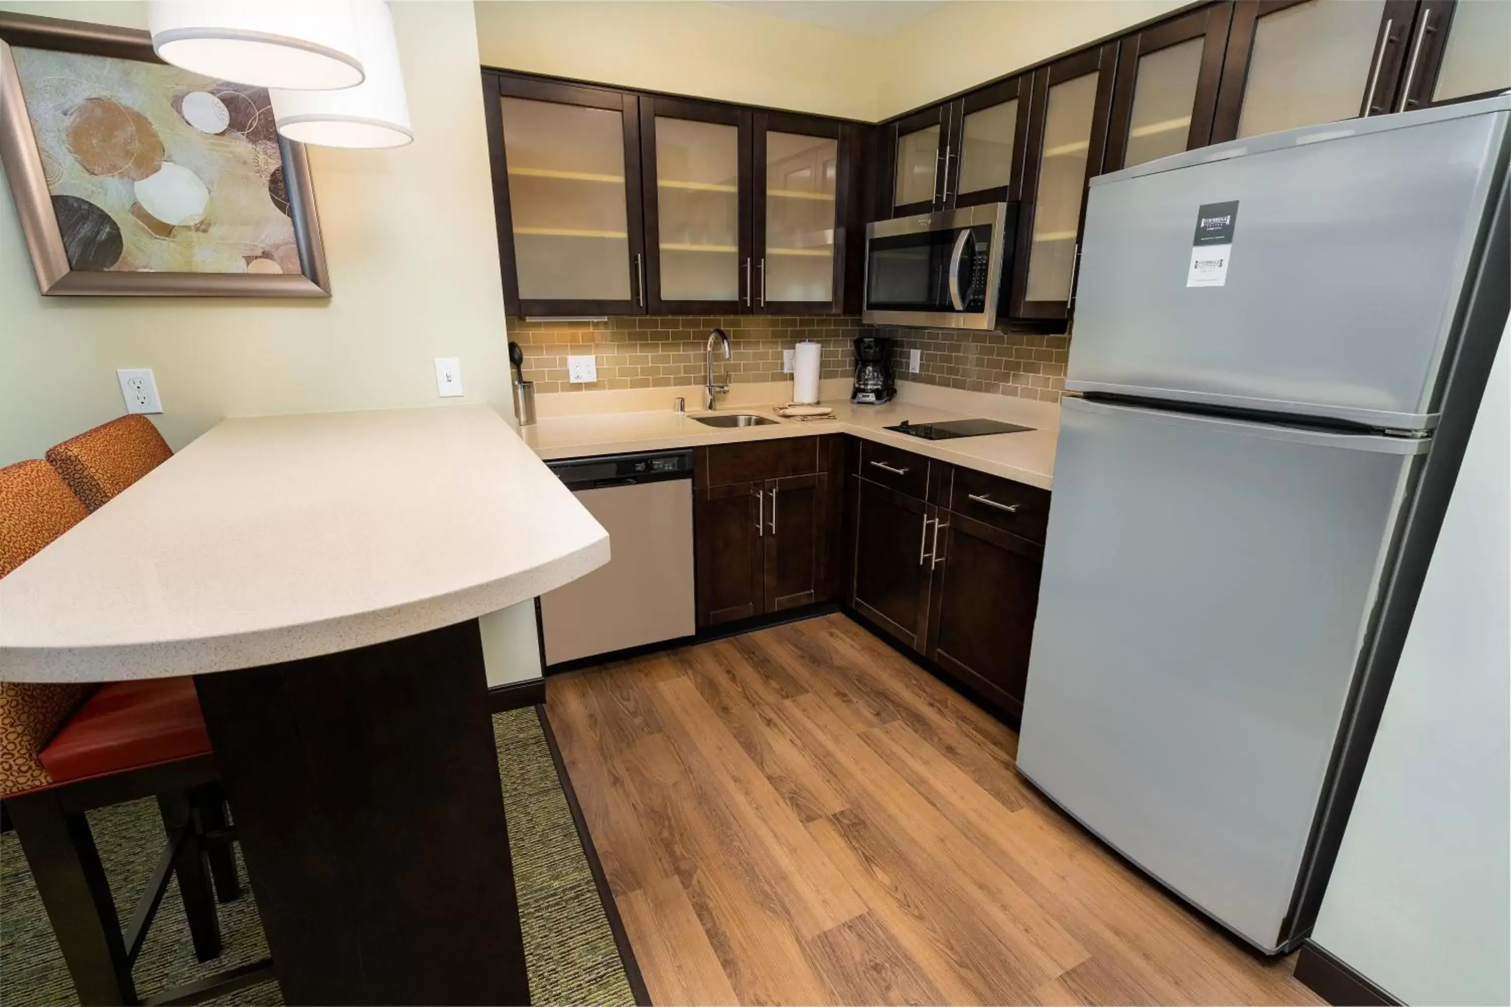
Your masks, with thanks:
M 876 118 L 875 39 L 704 0 L 479 0 L 488 66 Z

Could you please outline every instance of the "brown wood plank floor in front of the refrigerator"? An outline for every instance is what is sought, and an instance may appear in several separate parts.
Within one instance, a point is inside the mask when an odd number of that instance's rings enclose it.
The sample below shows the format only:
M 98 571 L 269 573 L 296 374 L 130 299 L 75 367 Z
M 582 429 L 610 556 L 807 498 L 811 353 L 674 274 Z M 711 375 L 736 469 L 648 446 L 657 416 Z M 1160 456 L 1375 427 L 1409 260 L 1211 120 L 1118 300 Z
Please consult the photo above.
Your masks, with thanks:
M 1321 1002 L 845 616 L 555 676 L 547 711 L 657 1004 Z

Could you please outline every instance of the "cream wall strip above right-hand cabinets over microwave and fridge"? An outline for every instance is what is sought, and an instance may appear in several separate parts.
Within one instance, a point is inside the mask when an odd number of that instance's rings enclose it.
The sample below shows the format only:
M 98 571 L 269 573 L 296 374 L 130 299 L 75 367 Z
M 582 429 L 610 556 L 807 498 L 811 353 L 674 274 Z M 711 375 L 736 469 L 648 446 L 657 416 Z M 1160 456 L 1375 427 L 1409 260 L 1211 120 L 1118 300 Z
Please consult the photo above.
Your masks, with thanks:
M 1189 0 L 955 0 L 878 41 L 878 119 L 967 91 Z

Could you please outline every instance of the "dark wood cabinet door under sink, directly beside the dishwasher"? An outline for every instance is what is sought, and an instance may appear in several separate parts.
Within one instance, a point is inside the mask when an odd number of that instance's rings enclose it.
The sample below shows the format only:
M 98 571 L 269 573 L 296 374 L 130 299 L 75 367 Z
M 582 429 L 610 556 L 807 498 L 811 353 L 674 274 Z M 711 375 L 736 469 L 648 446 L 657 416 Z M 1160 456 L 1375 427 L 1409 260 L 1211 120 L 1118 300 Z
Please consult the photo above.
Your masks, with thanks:
M 757 527 L 765 488 L 752 482 L 694 491 L 700 627 L 749 619 L 765 610 L 766 553 Z

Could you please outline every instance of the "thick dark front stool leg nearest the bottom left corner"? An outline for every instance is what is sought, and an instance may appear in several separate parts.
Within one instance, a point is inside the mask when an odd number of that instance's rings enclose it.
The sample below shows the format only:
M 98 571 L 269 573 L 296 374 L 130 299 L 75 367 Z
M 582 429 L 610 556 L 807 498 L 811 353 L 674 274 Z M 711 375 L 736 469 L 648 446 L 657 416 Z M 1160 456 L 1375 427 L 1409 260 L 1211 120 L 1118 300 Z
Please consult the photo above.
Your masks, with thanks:
M 82 1004 L 134 1004 L 115 900 L 83 812 L 51 791 L 12 797 L 11 818 Z

